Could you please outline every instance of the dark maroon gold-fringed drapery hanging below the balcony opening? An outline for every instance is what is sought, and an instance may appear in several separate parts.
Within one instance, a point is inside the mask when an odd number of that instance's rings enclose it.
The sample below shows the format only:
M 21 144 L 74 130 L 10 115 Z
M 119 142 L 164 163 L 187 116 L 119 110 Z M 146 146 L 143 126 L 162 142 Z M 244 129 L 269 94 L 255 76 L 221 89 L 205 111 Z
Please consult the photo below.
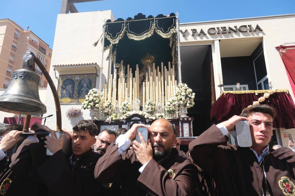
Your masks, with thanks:
M 240 115 L 244 108 L 268 92 L 269 90 L 223 91 L 211 108 L 210 118 L 213 122 L 222 122 L 233 115 Z M 295 105 L 288 89 L 276 90 L 261 104 L 275 108 L 277 116 L 273 120 L 273 127 L 295 128 Z

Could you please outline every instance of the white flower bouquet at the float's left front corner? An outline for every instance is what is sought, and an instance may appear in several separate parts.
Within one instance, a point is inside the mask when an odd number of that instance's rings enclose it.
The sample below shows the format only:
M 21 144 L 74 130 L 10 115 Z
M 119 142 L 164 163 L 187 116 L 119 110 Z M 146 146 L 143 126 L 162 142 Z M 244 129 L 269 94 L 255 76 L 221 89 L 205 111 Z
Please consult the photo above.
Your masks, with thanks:
M 89 93 L 85 95 L 85 100 L 82 103 L 82 109 L 101 109 L 102 93 L 97 89 L 90 89 Z

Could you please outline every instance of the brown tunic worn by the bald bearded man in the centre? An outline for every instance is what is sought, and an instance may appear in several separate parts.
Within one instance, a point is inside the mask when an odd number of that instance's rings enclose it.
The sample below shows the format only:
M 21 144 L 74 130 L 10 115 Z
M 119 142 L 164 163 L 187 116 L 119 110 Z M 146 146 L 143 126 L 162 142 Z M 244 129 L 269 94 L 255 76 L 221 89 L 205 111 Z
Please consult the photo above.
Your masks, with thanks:
M 94 177 L 99 182 L 119 182 L 122 195 L 194 195 L 196 167 L 176 149 L 159 162 L 150 160 L 140 174 L 142 164 L 133 150 L 119 155 L 117 148 L 111 144 L 98 160 Z

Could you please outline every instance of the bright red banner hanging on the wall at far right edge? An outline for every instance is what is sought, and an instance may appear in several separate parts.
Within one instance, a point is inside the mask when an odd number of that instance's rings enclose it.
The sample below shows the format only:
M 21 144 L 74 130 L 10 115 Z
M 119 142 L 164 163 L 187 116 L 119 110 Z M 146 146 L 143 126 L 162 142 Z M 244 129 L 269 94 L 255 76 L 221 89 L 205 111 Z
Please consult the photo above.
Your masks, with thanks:
M 289 82 L 295 95 L 295 46 L 277 46 L 278 52 L 285 65 Z

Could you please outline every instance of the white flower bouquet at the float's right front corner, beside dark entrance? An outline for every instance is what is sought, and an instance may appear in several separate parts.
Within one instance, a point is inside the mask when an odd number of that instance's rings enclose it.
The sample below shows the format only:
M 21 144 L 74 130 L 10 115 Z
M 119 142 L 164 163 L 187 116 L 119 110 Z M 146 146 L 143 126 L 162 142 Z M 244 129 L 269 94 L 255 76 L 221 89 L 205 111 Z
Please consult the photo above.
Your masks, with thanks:
M 195 93 L 185 83 L 178 84 L 175 89 L 175 96 L 180 105 L 190 108 L 195 105 Z

